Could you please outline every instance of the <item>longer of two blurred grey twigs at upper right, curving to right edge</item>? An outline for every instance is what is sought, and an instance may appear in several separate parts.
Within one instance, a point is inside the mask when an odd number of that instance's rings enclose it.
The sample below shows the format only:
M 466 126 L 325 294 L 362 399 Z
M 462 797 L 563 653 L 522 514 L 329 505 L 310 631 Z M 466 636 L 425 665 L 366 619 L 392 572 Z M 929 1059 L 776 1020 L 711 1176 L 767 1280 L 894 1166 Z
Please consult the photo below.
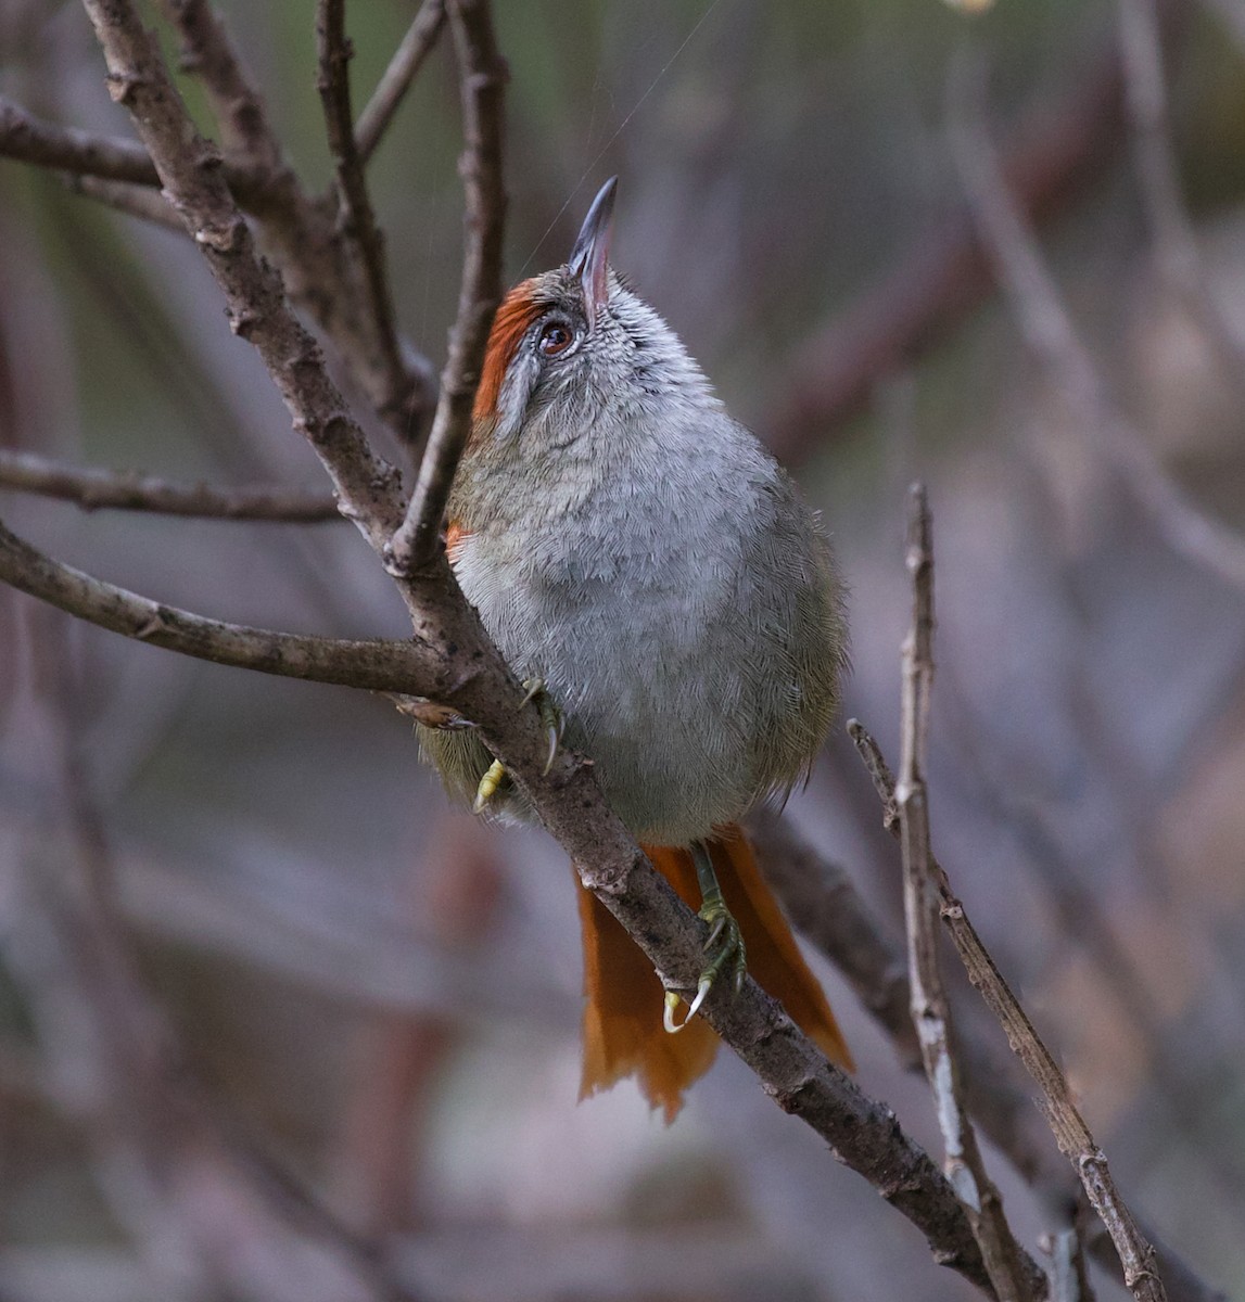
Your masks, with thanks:
M 970 112 L 975 69 L 949 83 L 952 152 L 982 242 L 995 263 L 1025 341 L 1067 392 L 1086 434 L 1124 475 L 1172 551 L 1245 589 L 1245 539 L 1199 510 L 1108 397 L 1093 357 L 1077 337 L 1038 242 L 1007 187 L 979 112 Z

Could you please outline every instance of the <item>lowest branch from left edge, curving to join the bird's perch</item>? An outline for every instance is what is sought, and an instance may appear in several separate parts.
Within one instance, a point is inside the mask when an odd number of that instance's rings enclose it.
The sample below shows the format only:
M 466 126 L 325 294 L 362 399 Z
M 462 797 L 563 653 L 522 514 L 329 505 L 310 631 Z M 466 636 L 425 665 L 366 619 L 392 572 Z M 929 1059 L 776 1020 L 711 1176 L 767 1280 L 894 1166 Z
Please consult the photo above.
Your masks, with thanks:
M 438 694 L 439 661 L 419 642 L 356 642 L 251 629 L 152 602 L 53 561 L 0 523 L 0 582 L 102 629 L 198 660 L 371 691 Z

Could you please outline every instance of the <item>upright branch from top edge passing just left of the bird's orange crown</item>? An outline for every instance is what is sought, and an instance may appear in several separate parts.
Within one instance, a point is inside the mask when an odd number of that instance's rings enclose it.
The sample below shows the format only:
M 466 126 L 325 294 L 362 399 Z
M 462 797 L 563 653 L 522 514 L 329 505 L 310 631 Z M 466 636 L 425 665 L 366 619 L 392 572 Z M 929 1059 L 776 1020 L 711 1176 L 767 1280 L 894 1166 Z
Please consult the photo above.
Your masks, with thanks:
M 460 169 L 466 187 L 466 255 L 458 316 L 441 372 L 441 396 L 419 478 L 402 527 L 389 547 L 395 574 L 413 574 L 436 551 L 449 484 L 471 427 L 471 406 L 484 363 L 484 345 L 501 301 L 501 104 L 508 77 L 497 53 L 486 0 L 449 0 L 449 26 L 458 56 L 466 151 Z

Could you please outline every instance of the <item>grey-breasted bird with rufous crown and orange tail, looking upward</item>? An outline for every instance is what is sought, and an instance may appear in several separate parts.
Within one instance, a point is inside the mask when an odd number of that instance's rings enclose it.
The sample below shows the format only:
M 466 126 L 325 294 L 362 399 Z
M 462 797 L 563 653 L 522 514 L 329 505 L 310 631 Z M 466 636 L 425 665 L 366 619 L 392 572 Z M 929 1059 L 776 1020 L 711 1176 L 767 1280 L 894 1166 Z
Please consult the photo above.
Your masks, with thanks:
M 591 758 L 652 866 L 710 926 L 697 992 L 665 992 L 582 885 L 581 1098 L 636 1075 L 669 1122 L 719 1039 L 697 1017 L 745 971 L 852 1069 L 740 820 L 806 779 L 848 665 L 819 518 L 609 263 L 617 178 L 567 263 L 494 318 L 445 547 L 559 746 Z M 469 728 L 419 725 L 451 796 L 534 812 Z M 577 879 L 578 881 L 578 879 Z

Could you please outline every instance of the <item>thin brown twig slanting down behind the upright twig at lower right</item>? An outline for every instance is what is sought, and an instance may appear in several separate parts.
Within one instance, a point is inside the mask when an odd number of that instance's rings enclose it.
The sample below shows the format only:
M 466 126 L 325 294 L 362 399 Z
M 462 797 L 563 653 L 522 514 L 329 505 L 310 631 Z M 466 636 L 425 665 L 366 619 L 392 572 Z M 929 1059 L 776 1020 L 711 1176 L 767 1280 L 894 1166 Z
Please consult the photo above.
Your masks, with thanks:
M 852 740 L 862 756 L 867 753 L 866 767 L 874 777 L 883 809 L 889 810 L 896 798 L 895 779 L 874 738 L 854 720 L 853 724 Z M 981 991 L 982 999 L 1007 1032 L 1012 1051 L 1042 1090 L 1043 1111 L 1059 1150 L 1072 1163 L 1090 1203 L 1111 1234 L 1124 1267 L 1124 1282 L 1137 1302 L 1160 1302 L 1167 1294 L 1158 1275 L 1154 1247 L 1141 1233 L 1115 1187 L 1106 1154 L 1094 1142 L 1085 1118 L 1073 1103 L 1063 1072 L 995 966 L 977 928 L 969 922 L 964 905 L 952 893 L 947 874 L 934 858 L 930 859 L 930 866 L 938 885 L 943 922 L 964 962 L 969 982 Z

